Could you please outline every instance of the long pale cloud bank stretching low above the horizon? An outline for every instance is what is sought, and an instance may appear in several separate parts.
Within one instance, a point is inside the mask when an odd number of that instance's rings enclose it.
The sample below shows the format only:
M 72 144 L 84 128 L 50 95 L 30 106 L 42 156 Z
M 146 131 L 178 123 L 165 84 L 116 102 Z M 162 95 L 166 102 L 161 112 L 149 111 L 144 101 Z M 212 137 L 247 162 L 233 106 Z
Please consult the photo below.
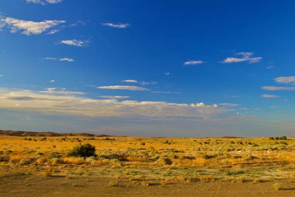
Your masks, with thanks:
M 49 91 L 50 92 L 50 91 Z M 58 91 L 52 91 L 58 92 Z M 19 103 L 19 106 L 15 106 Z M 91 99 L 80 95 L 39 93 L 0 88 L 0 108 L 56 115 L 89 117 L 198 117 L 199 120 L 230 116 L 230 109 L 204 103 L 168 103 L 117 99 Z

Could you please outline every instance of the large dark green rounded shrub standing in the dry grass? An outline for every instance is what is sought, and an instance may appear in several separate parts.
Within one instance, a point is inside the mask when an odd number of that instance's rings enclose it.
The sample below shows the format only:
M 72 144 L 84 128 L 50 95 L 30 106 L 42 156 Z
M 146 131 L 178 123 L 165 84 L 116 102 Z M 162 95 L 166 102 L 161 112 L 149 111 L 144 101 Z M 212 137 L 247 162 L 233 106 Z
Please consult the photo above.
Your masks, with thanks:
M 67 157 L 96 157 L 95 146 L 91 144 L 80 144 L 73 147 L 67 154 Z

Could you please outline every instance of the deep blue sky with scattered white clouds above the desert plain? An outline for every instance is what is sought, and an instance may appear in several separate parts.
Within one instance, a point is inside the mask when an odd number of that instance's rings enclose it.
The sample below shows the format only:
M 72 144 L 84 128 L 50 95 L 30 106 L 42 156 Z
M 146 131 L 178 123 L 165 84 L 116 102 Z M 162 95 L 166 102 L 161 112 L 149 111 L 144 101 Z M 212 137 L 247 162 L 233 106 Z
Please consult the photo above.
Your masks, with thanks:
M 294 135 L 295 2 L 2 0 L 2 130 Z

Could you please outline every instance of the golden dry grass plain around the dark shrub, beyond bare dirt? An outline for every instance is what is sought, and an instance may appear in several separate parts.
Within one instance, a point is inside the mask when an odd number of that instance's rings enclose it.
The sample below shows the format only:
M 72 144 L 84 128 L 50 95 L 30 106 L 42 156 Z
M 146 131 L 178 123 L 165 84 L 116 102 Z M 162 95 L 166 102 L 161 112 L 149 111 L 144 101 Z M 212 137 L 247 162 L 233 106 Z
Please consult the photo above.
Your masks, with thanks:
M 42 166 L 51 165 L 71 169 L 72 172 L 65 176 L 71 173 L 71 176 L 99 175 L 138 182 L 143 178 L 137 177 L 134 171 L 140 171 L 149 180 L 158 179 L 160 185 L 165 185 L 168 178 L 183 182 L 205 183 L 217 179 L 242 183 L 244 178 L 253 180 L 255 177 L 253 183 L 260 183 L 261 179 L 271 178 L 273 174 L 279 178 L 295 177 L 295 138 L 112 137 L 115 140 L 102 140 L 102 137 L 88 139 L 79 136 L 82 142 L 78 142 L 77 136 L 65 139 L 47 137 L 46 140 L 31 137 L 35 139 L 31 141 L 24 138 L 0 135 L 0 166 L 4 167 L 0 173 L 9 171 L 5 167 L 10 167 L 13 173 L 26 171 L 26 167 L 41 173 L 44 170 Z M 79 143 L 94 145 L 98 157 L 64 156 Z M 53 148 L 54 145 L 56 148 Z M 80 165 L 87 165 L 87 168 L 79 171 L 77 167 Z M 196 169 L 203 169 L 203 172 L 199 173 Z M 249 170 L 240 174 L 241 169 Z

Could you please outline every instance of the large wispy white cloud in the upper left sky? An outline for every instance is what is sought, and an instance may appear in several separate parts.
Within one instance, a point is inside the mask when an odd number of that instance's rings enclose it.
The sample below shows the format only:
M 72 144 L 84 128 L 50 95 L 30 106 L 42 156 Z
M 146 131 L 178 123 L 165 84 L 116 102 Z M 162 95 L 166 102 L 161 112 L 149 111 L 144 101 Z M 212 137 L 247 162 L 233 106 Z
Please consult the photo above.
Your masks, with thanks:
M 11 33 L 21 31 L 25 35 L 37 35 L 59 26 L 66 21 L 62 20 L 46 20 L 42 22 L 25 21 L 11 17 L 0 18 L 0 22 L 10 29 Z

